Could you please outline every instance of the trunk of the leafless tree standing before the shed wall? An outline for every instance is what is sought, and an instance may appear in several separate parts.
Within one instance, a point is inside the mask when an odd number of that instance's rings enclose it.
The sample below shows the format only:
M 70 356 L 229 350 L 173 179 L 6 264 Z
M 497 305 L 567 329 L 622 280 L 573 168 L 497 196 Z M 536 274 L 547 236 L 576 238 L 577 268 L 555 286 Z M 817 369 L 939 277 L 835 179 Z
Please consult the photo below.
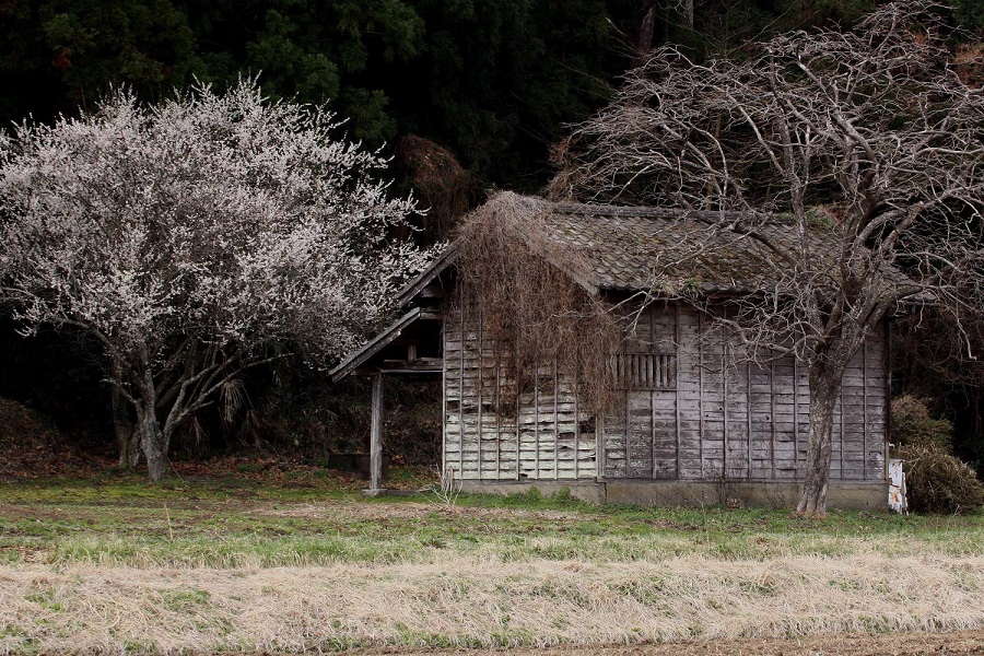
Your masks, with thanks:
M 827 512 L 827 488 L 832 454 L 833 413 L 841 394 L 843 367 L 823 363 L 810 365 L 810 430 L 803 495 L 796 512 L 822 515 Z

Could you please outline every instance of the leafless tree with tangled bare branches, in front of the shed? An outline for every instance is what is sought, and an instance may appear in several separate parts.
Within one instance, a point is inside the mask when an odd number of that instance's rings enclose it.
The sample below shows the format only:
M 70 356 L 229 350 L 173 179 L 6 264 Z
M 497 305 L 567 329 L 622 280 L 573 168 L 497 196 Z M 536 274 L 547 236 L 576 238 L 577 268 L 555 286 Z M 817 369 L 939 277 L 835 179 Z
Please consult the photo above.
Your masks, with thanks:
M 749 358 L 809 366 L 800 512 L 825 509 L 835 402 L 866 337 L 906 298 L 932 298 L 958 328 L 976 309 L 984 94 L 954 71 L 939 10 L 889 4 L 853 31 L 778 36 L 745 61 L 664 49 L 576 128 L 552 185 L 712 211 L 707 230 L 755 245 L 768 282 L 716 318 Z

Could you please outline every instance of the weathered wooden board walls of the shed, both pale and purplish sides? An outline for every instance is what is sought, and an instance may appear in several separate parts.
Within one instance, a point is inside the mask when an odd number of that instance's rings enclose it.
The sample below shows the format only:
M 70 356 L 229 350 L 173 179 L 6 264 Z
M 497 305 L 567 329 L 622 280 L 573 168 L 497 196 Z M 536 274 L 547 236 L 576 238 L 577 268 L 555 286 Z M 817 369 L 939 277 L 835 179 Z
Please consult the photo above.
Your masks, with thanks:
M 444 458 L 471 480 L 796 480 L 806 458 L 806 367 L 792 358 L 730 365 L 727 339 L 686 306 L 640 314 L 617 360 L 632 380 L 605 417 L 578 408 L 571 380 L 543 367 L 515 382 L 479 321 L 445 321 Z M 887 343 L 872 336 L 844 377 L 832 480 L 883 480 Z

